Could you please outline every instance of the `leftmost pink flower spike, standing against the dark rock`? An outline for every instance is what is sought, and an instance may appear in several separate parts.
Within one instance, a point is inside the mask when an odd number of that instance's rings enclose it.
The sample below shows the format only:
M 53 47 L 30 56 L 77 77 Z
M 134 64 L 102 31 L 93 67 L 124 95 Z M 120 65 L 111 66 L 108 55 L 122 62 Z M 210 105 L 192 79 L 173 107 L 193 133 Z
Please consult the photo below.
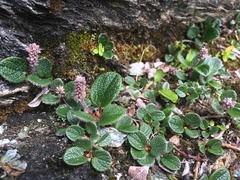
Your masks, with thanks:
M 41 53 L 39 45 L 36 43 L 29 44 L 26 51 L 28 52 L 27 60 L 29 62 L 29 66 L 32 68 L 36 67 L 38 65 L 38 54 Z

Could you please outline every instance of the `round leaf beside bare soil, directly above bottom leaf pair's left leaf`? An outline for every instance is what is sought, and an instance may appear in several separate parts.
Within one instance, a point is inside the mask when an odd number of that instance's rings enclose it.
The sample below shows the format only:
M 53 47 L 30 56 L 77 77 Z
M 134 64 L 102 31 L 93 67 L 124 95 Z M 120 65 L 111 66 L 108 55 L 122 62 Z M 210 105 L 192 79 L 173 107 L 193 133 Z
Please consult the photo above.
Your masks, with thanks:
M 66 130 L 66 135 L 71 141 L 76 141 L 80 137 L 84 136 L 84 130 L 78 125 L 71 125 Z

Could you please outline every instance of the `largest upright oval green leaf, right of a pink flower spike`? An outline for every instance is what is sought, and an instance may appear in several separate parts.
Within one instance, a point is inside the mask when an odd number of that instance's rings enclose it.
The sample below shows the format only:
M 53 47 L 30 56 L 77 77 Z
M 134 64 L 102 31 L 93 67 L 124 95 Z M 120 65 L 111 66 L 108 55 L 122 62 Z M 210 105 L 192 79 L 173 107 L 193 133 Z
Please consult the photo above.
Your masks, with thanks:
M 100 75 L 91 88 L 92 102 L 101 107 L 109 105 L 117 97 L 121 84 L 121 76 L 115 72 Z

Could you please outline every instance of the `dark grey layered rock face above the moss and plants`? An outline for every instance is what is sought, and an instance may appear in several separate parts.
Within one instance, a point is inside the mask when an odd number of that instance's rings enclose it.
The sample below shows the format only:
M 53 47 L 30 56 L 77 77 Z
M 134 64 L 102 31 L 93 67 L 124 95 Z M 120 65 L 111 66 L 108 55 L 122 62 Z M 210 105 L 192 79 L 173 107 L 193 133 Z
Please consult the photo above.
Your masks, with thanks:
M 61 38 L 73 31 L 164 31 L 171 22 L 178 27 L 206 16 L 227 21 L 238 9 L 238 0 L 0 0 L 0 61 L 26 56 L 26 46 L 41 38 Z

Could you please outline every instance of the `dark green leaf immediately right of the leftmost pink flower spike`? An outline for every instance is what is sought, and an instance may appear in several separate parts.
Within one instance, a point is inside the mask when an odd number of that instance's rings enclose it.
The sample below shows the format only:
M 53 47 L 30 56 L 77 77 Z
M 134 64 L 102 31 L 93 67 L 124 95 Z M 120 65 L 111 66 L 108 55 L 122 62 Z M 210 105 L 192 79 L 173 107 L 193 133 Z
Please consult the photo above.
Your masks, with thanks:
M 36 66 L 36 73 L 41 78 L 50 78 L 52 72 L 52 64 L 46 58 L 38 60 L 38 65 Z

